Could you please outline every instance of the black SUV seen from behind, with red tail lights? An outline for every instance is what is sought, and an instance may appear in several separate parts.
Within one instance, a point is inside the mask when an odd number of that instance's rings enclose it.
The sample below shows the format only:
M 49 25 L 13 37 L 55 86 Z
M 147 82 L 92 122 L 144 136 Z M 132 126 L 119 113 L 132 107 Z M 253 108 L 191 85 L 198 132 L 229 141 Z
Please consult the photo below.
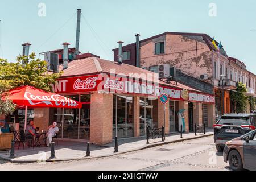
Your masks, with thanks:
M 224 114 L 213 125 L 214 143 L 217 151 L 223 151 L 226 142 L 240 137 L 255 129 L 255 124 L 249 119 L 250 114 Z

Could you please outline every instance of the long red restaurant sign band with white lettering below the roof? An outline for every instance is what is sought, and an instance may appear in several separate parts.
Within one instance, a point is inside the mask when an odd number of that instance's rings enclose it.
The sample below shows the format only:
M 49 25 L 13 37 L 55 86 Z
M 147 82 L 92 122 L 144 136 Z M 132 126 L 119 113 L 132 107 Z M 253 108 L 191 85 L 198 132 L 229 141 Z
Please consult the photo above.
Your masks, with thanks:
M 58 94 L 79 92 L 105 92 L 119 94 L 144 94 L 160 96 L 165 93 L 172 100 L 190 100 L 214 104 L 214 96 L 186 89 L 171 88 L 152 82 L 138 81 L 134 78 L 115 77 L 106 74 L 79 76 L 59 79 L 53 90 Z

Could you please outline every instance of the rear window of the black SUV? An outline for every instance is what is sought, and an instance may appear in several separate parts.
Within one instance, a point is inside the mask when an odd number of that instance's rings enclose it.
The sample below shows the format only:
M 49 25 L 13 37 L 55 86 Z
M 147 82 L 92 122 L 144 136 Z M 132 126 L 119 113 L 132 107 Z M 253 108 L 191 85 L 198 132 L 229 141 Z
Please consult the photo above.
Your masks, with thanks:
M 222 116 L 218 124 L 221 125 L 249 125 L 249 117 Z

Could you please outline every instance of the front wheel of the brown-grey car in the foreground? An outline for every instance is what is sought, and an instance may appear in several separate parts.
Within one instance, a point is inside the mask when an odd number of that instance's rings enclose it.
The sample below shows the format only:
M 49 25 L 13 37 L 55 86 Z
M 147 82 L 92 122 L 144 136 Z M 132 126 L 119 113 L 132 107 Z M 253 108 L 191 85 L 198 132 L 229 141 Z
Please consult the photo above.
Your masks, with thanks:
M 229 153 L 229 167 L 234 171 L 241 171 L 243 169 L 241 156 L 236 150 L 232 150 Z

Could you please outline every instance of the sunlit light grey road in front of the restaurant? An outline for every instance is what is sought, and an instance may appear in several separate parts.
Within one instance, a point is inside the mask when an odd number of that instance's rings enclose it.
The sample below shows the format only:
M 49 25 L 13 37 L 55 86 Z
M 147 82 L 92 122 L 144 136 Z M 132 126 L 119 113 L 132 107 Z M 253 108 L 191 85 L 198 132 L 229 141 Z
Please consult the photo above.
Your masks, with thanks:
M 0 160 L 3 170 L 229 170 L 222 152 L 217 152 L 213 137 L 188 140 L 109 158 L 72 162 L 13 164 Z

